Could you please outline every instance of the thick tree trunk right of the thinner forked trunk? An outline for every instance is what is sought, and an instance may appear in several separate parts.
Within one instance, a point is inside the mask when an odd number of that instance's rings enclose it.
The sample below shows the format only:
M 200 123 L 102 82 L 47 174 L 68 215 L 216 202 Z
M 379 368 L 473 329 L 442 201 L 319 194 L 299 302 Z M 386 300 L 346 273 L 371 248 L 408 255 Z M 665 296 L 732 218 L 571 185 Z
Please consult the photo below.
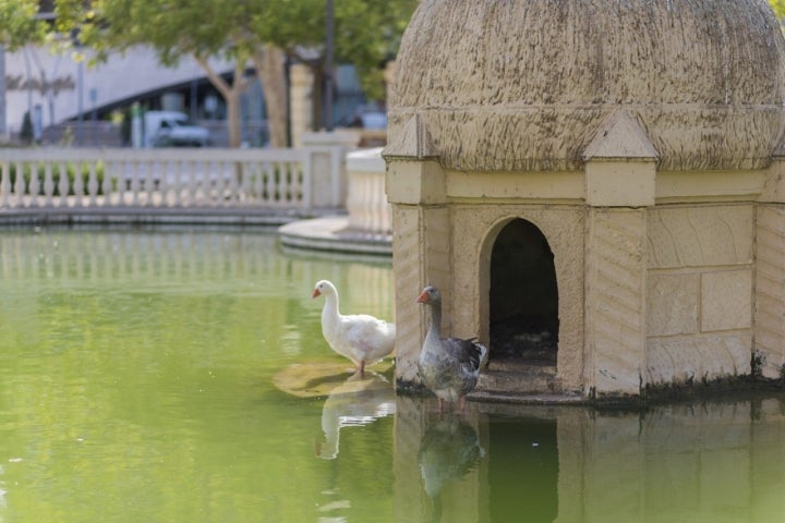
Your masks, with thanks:
M 252 57 L 256 68 L 256 77 L 258 77 L 264 93 L 269 144 L 273 147 L 289 145 L 287 126 L 289 102 L 283 70 L 285 59 L 283 50 L 275 46 L 265 46 Z

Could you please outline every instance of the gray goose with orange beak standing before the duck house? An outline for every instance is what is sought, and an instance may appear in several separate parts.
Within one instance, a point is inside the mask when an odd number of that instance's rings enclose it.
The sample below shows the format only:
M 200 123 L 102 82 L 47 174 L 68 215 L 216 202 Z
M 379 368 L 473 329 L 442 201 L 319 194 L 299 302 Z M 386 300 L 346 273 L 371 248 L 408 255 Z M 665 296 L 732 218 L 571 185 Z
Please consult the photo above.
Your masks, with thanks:
M 445 401 L 457 401 L 463 411 L 466 394 L 476 386 L 487 346 L 476 343 L 475 338 L 442 338 L 442 293 L 435 287 L 423 289 L 416 301 L 431 307 L 431 327 L 418 360 L 420 379 L 438 398 L 439 412 Z

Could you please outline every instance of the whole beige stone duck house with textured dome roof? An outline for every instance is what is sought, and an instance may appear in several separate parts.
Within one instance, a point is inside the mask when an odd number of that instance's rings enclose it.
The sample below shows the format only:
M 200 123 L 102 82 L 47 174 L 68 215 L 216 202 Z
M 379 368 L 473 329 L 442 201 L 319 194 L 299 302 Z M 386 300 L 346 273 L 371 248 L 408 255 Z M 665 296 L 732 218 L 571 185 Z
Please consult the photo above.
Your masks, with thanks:
M 383 153 L 399 387 L 426 283 L 490 343 L 480 396 L 782 379 L 784 102 L 764 0 L 423 0 Z

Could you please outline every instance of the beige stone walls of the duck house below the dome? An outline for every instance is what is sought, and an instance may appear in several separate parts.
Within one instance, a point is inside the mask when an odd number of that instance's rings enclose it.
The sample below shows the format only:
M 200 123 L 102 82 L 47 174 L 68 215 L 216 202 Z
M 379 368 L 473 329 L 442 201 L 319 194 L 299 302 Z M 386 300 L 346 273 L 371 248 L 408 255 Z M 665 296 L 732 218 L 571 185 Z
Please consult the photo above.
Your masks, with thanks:
M 765 377 L 778 377 L 783 179 L 780 161 L 765 171 L 659 172 L 653 205 L 593 207 L 582 171 L 388 161 L 397 378 L 416 381 L 426 317 L 414 299 L 425 284 L 443 290 L 445 333 L 488 340 L 491 252 L 516 218 L 535 224 L 554 254 L 560 390 L 637 394 L 745 376 L 753 353 Z M 756 202 L 761 191 L 771 202 Z

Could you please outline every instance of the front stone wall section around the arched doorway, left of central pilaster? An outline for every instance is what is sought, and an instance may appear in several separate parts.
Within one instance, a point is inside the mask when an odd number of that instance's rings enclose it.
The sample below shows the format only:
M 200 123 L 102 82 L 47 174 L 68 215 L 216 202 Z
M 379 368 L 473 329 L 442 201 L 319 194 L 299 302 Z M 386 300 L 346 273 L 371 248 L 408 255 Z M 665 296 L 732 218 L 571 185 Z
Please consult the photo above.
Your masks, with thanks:
M 502 228 L 522 218 L 543 232 L 554 253 L 560 386 L 582 388 L 583 187 L 580 172 L 467 173 L 435 161 L 388 162 L 399 382 L 416 382 L 427 320 L 414 299 L 425 284 L 443 291 L 445 335 L 487 341 L 491 252 Z

